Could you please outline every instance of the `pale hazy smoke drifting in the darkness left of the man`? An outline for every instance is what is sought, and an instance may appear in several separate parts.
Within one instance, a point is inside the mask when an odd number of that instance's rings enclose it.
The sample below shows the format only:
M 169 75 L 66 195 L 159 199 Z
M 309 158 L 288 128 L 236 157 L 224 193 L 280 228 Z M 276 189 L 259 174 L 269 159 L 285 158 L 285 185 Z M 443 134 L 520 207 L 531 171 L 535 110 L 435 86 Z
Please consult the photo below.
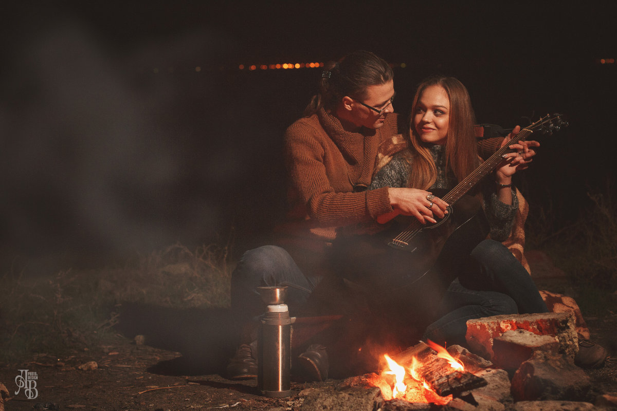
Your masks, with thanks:
M 120 51 L 66 16 L 28 30 L 1 79 L 6 253 L 122 253 L 225 230 L 216 190 L 242 170 L 221 172 L 214 136 L 199 136 L 215 79 L 183 79 L 228 41 L 204 29 Z

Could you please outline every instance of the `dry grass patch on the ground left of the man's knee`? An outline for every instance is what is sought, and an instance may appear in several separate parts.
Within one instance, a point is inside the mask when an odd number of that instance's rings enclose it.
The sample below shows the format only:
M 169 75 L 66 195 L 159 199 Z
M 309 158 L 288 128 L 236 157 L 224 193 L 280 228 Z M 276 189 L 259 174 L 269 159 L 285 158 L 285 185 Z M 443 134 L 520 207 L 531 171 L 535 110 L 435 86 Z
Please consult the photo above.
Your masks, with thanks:
M 227 249 L 182 245 L 136 256 L 123 268 L 62 271 L 52 277 L 0 279 L 0 363 L 32 354 L 59 355 L 115 336 L 124 302 L 166 307 L 226 307 Z

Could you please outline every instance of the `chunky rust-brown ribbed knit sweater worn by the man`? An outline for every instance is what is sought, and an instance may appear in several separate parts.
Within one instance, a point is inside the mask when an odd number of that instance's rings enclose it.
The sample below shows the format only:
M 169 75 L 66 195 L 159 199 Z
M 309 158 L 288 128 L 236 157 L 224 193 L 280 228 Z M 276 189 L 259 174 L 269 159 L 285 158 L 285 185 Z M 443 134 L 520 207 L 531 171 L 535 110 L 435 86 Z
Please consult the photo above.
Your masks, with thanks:
M 291 124 L 285 133 L 284 157 L 290 178 L 290 210 L 279 227 L 281 245 L 323 251 L 337 227 L 367 222 L 392 211 L 387 187 L 354 192 L 368 186 L 378 147 L 397 134 L 398 116 L 391 113 L 379 129 L 347 132 L 323 108 Z M 294 256 L 295 258 L 295 256 Z

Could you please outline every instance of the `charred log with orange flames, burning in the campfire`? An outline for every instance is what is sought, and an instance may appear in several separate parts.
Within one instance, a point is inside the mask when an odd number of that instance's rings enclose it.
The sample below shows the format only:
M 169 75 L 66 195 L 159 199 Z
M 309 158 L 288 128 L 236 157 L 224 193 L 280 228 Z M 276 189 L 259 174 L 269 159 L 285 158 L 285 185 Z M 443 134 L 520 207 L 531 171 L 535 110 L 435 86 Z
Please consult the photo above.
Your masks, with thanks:
M 395 361 L 399 364 L 412 363 L 414 378 L 426 383 L 442 397 L 487 385 L 484 378 L 463 370 L 463 366 L 445 348 L 434 343 L 431 346 L 416 344 L 395 356 Z

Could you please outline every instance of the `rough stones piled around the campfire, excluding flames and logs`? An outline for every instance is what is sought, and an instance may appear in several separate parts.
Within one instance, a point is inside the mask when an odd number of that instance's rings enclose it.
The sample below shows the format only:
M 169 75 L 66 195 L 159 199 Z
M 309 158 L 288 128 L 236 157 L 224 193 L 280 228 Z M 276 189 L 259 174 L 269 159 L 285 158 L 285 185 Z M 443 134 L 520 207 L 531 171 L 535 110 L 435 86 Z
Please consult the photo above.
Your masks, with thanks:
M 593 410 L 617 408 L 617 397 L 595 389 L 574 365 L 578 335 L 571 313 L 499 315 L 467 323 L 471 352 L 450 346 L 448 352 L 466 372 L 486 385 L 457 393 L 445 405 L 384 401 L 371 386 L 376 375 L 348 378 L 337 386 L 308 394 L 303 411 L 312 410 Z M 476 355 L 477 354 L 477 355 Z

